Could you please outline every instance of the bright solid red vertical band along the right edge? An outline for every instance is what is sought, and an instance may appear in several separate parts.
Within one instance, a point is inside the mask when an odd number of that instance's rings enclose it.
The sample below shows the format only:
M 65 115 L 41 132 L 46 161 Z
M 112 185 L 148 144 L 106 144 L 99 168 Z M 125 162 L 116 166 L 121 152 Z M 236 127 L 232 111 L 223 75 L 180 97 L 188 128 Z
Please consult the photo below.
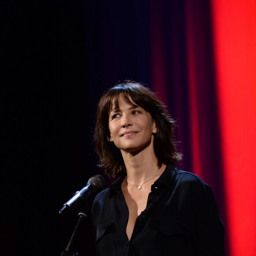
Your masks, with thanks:
M 218 109 L 232 256 L 256 255 L 256 1 L 213 0 Z

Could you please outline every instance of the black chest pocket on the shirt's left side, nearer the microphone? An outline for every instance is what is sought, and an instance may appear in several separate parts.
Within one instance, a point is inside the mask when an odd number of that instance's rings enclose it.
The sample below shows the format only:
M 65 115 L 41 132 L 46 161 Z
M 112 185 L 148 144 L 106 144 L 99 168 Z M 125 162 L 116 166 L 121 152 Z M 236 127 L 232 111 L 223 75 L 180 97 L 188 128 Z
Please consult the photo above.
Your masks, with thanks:
M 102 255 L 115 255 L 115 246 L 113 241 L 113 233 L 116 232 L 114 222 L 107 222 L 96 228 L 96 242 L 98 249 Z

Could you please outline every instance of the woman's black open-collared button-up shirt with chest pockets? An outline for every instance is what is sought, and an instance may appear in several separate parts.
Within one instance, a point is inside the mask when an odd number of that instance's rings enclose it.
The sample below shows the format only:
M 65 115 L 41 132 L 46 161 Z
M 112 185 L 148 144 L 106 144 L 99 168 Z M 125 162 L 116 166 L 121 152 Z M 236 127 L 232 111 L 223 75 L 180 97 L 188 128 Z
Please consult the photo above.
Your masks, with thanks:
M 223 256 L 224 228 L 211 187 L 168 165 L 151 186 L 130 241 L 120 177 L 94 199 L 91 216 L 98 256 Z

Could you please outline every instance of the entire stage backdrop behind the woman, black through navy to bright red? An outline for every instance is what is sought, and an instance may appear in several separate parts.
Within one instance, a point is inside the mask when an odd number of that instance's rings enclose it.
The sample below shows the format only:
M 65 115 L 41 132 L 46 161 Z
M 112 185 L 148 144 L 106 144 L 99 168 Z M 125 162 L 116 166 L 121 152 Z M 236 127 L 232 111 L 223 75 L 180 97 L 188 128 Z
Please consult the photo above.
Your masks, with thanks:
M 226 256 L 256 255 L 255 0 L 2 0 L 0 10 L 1 255 L 65 250 L 79 207 L 58 211 L 101 173 L 96 105 L 124 79 L 147 84 L 177 120 L 179 167 L 211 185 Z M 71 249 L 95 256 L 90 213 Z

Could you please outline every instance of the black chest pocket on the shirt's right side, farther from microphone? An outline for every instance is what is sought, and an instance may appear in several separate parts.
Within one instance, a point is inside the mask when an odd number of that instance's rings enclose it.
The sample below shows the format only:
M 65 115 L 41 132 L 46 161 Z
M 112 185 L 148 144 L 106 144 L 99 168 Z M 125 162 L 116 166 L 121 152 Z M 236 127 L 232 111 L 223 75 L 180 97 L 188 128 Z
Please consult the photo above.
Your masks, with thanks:
M 148 226 L 152 241 L 172 252 L 171 255 L 196 255 L 192 235 L 184 223 L 169 218 L 151 218 Z

